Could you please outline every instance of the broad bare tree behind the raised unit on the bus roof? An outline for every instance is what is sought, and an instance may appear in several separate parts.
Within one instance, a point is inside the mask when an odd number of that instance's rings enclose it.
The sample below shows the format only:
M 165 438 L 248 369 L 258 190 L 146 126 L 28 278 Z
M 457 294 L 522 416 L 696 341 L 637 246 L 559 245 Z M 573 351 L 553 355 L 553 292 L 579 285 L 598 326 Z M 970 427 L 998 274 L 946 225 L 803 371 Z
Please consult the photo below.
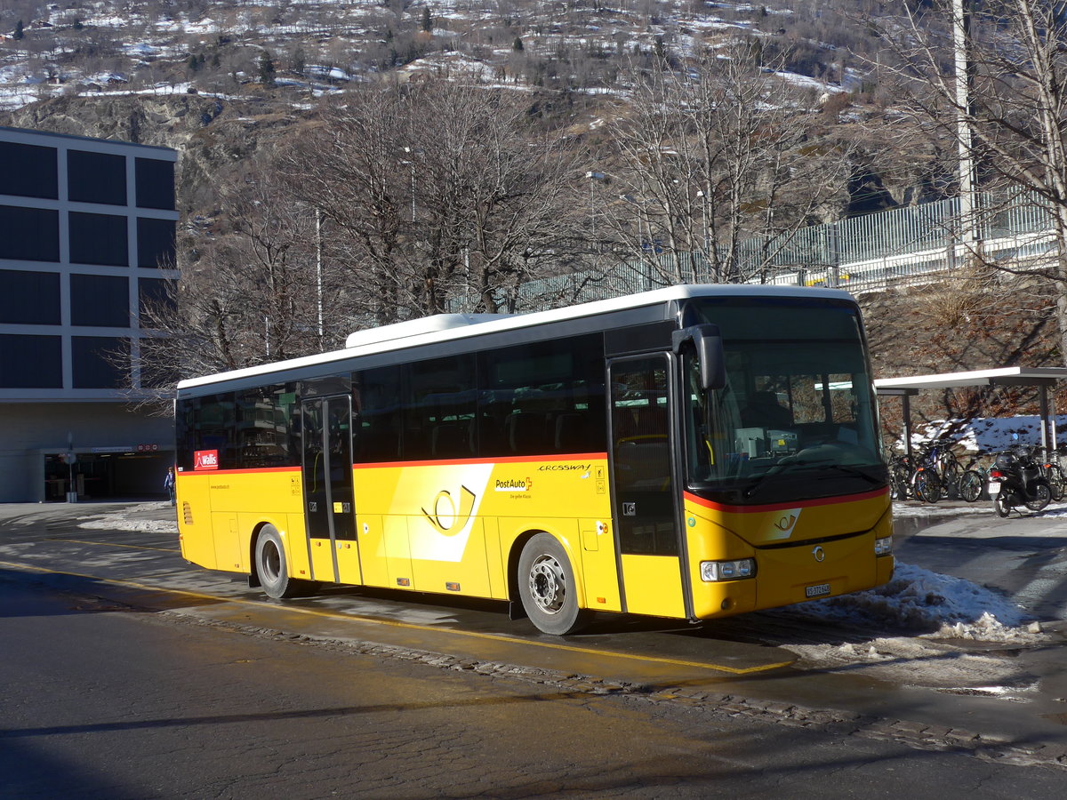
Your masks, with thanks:
M 538 133 L 498 90 L 428 79 L 366 84 L 329 106 L 287 172 L 331 220 L 367 322 L 514 305 L 531 276 L 566 269 L 566 141 Z

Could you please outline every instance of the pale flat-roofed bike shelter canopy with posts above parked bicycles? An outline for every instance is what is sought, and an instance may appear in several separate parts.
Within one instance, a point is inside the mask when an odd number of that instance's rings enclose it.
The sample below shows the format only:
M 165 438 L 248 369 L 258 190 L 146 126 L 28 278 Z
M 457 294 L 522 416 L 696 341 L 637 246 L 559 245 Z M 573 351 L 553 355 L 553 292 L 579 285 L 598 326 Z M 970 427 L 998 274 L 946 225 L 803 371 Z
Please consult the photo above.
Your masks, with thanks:
M 874 382 L 879 397 L 899 397 L 904 403 L 904 442 L 911 454 L 911 401 L 923 389 L 945 389 L 962 386 L 1035 386 L 1041 418 L 1041 445 L 1056 446 L 1056 411 L 1049 401 L 1049 387 L 1056 381 L 1067 380 L 1067 367 L 998 367 L 969 372 L 942 372 L 941 374 L 911 378 L 880 378 Z

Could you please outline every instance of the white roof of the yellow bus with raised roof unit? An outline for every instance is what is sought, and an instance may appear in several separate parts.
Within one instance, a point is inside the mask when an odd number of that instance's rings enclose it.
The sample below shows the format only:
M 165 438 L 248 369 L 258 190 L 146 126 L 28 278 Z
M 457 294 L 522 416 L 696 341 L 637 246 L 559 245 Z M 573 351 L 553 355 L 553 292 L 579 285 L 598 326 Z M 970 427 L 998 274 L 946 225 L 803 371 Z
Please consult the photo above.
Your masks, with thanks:
M 377 329 L 368 329 L 367 331 L 357 331 L 348 337 L 347 343 L 349 347 L 343 350 L 316 353 L 315 355 L 305 355 L 272 364 L 260 364 L 255 367 L 217 372 L 200 378 L 189 378 L 178 383 L 178 389 L 223 383 L 255 375 L 267 375 L 280 370 L 299 370 L 304 367 L 329 364 L 330 362 L 343 361 L 357 355 L 388 352 L 398 348 L 432 345 L 439 341 L 450 341 L 468 336 L 521 330 L 551 322 L 609 314 L 627 308 L 666 304 L 675 300 L 724 295 L 762 298 L 818 297 L 853 300 L 853 297 L 848 292 L 840 289 L 758 284 L 681 284 L 636 294 L 625 294 L 608 300 L 595 300 L 591 303 L 553 308 L 546 311 L 532 311 L 530 314 L 442 314 L 417 320 L 398 322 L 392 325 L 383 325 Z

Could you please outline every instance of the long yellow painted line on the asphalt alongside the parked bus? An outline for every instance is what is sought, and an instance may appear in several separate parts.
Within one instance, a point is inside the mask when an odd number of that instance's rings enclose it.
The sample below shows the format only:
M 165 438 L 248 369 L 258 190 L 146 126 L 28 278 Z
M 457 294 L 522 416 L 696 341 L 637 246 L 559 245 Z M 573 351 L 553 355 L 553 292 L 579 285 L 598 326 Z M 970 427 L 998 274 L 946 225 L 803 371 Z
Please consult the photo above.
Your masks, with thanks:
M 206 592 L 191 592 L 186 589 L 169 589 L 166 587 L 154 587 L 154 586 L 148 586 L 146 583 L 138 583 L 132 580 L 101 578 L 96 575 L 84 575 L 82 573 L 76 573 L 76 572 L 49 570 L 44 566 L 33 566 L 31 564 L 18 564 L 11 561 L 0 561 L 0 566 L 9 566 L 16 570 L 31 570 L 34 572 L 48 573 L 50 575 L 69 575 L 76 578 L 87 578 L 89 580 L 97 580 L 101 583 L 111 583 L 112 586 L 121 586 L 129 589 L 140 589 L 149 592 L 169 592 L 171 594 L 181 594 L 187 597 L 195 597 L 197 599 L 224 601 L 226 603 L 234 603 L 244 606 L 270 608 L 275 611 L 278 610 L 292 611 L 294 613 L 307 614 L 309 617 L 324 617 L 327 619 L 334 619 L 334 620 L 348 620 L 348 621 L 363 622 L 370 625 L 384 625 L 386 627 L 404 628 L 407 630 L 420 630 L 424 633 L 431 633 L 431 634 L 465 636 L 472 639 L 487 639 L 490 641 L 507 642 L 509 644 L 526 644 L 526 645 L 534 645 L 537 647 L 544 647 L 547 650 L 561 650 L 568 653 L 583 653 L 585 655 L 606 656 L 608 658 L 621 658 L 634 661 L 651 661 L 653 663 L 664 663 L 664 665 L 669 665 L 671 667 L 696 667 L 698 669 L 728 672 L 731 675 L 749 675 L 754 672 L 766 672 L 768 670 L 779 669 L 780 667 L 790 667 L 793 663 L 793 661 L 781 661 L 779 663 L 763 665 L 761 667 L 743 667 L 743 668 L 726 667 L 717 663 L 703 663 L 701 661 L 683 661 L 676 658 L 662 658 L 658 656 L 640 656 L 640 655 L 633 655 L 630 653 L 612 653 L 611 651 L 606 651 L 606 650 L 577 647 L 572 644 L 555 644 L 553 642 L 542 642 L 536 639 L 520 639 L 517 637 L 500 636 L 499 634 L 480 634 L 475 630 L 452 630 L 450 628 L 433 627 L 432 625 L 418 625 L 412 622 L 398 622 L 396 620 L 379 620 L 372 617 L 362 617 L 360 614 L 346 614 L 346 613 L 340 613 L 338 611 L 323 611 L 318 608 L 301 608 L 300 606 L 278 606 L 275 603 L 268 603 L 266 601 L 250 601 L 243 597 L 227 597 L 221 594 L 207 594 Z

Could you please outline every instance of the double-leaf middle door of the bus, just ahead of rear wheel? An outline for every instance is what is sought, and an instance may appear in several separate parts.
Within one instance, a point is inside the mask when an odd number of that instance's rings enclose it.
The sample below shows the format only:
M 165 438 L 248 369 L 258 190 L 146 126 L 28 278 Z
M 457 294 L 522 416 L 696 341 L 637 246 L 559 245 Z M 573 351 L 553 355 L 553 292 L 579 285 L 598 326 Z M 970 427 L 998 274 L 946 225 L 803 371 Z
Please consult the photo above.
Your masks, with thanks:
M 304 515 L 315 580 L 360 583 L 352 493 L 352 405 L 347 395 L 305 400 Z

